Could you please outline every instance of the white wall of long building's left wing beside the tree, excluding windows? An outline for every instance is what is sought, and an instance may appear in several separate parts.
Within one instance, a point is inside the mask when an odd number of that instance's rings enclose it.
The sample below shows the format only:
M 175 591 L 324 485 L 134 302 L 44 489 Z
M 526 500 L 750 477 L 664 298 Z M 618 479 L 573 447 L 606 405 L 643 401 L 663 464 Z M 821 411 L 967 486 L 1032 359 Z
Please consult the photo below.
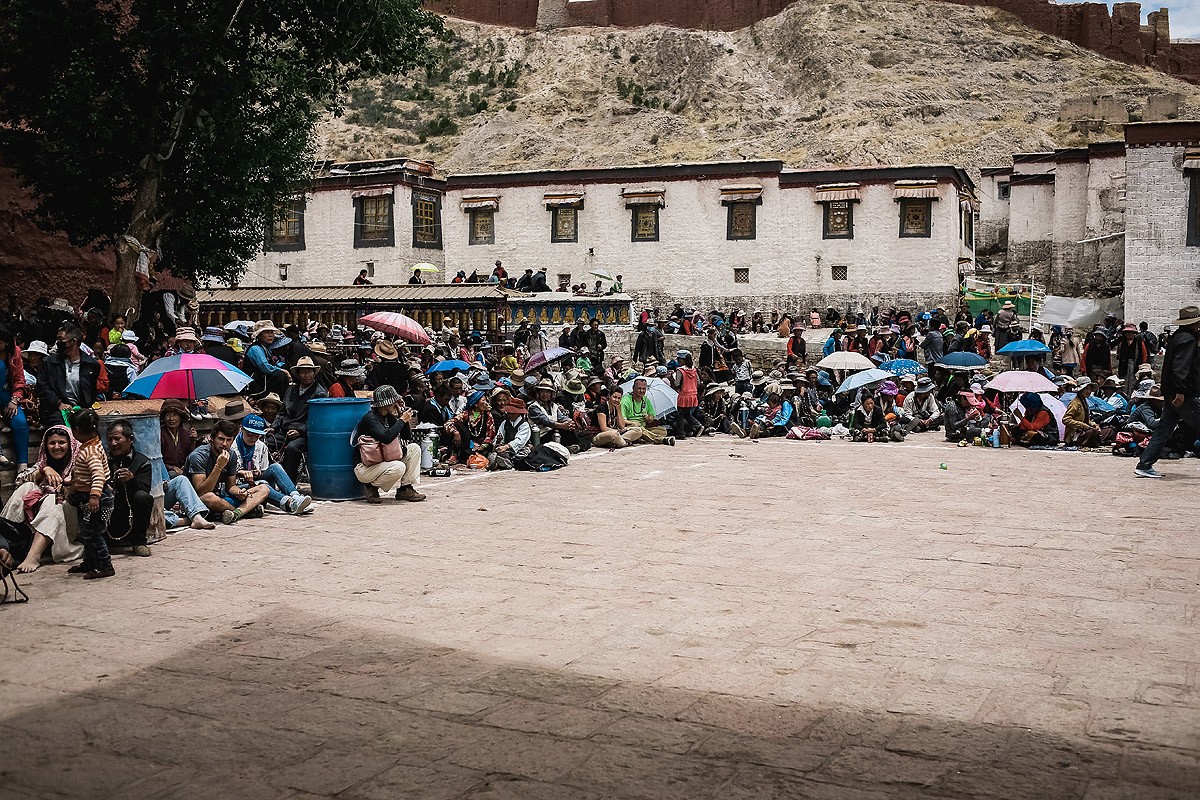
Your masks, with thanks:
M 367 261 L 374 261 L 378 284 L 408 283 L 413 264 L 445 264 L 445 251 L 413 247 L 412 187 L 397 184 L 392 194 L 395 246 L 354 246 L 354 191 L 356 187 L 318 190 L 305 198 L 305 248 L 268 251 L 251 261 L 239 285 L 329 287 L 349 285 Z M 445 209 L 443 207 L 443 219 Z M 443 247 L 444 247 L 443 239 Z M 288 265 L 287 281 L 280 279 L 280 264 Z M 430 283 L 445 282 L 444 272 L 427 275 Z

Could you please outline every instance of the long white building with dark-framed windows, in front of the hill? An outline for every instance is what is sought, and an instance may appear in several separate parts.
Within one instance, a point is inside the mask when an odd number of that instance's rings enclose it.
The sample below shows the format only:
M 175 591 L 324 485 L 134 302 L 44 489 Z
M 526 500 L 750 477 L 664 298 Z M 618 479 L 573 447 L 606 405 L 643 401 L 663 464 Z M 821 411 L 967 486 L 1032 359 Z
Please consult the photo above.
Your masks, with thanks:
M 778 161 L 466 174 L 406 160 L 322 164 L 242 287 L 347 285 L 412 266 L 620 275 L 638 302 L 803 311 L 947 305 L 978 204 L 950 166 L 785 170 Z

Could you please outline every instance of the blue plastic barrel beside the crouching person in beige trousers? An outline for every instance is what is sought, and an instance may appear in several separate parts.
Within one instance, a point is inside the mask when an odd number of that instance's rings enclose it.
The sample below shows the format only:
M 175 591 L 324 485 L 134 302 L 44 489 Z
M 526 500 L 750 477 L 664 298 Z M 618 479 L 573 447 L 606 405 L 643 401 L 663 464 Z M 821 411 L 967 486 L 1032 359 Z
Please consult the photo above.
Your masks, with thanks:
M 318 500 L 358 500 L 362 485 L 354 477 L 350 434 L 366 413 L 366 397 L 322 397 L 308 401 L 308 480 Z

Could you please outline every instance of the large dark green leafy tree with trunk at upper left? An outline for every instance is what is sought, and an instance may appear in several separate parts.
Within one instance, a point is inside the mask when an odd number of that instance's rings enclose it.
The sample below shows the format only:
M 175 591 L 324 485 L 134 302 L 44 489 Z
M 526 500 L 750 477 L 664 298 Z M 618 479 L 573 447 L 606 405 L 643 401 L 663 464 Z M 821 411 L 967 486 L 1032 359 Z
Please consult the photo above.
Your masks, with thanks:
M 139 245 L 236 277 L 349 82 L 444 34 L 419 0 L 0 0 L 0 152 L 40 225 L 115 245 L 113 307 L 137 309 Z

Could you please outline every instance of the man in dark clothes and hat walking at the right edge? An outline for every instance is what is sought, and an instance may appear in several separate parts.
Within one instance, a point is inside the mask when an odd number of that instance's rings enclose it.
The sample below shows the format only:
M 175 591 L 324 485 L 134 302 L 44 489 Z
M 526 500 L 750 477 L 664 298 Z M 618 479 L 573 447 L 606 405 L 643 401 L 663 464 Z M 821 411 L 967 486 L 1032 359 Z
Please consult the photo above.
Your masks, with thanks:
M 1196 348 L 1200 307 L 1184 306 L 1174 324 L 1178 327 L 1166 342 L 1163 356 L 1163 416 L 1134 469 L 1138 477 L 1162 477 L 1154 462 L 1181 422 L 1193 433 L 1200 431 L 1200 353 Z

